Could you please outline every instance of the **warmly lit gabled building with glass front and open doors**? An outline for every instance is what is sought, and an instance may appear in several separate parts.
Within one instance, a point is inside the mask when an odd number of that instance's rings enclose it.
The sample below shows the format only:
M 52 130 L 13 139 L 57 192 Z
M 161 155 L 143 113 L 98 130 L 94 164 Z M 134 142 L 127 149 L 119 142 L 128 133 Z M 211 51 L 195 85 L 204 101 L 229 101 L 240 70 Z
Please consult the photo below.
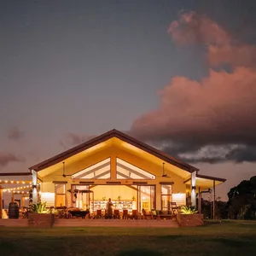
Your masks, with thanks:
M 160 150 L 112 130 L 29 168 L 32 201 L 48 207 L 168 210 L 196 205 L 201 191 L 224 183 Z M 198 207 L 201 207 L 200 205 Z

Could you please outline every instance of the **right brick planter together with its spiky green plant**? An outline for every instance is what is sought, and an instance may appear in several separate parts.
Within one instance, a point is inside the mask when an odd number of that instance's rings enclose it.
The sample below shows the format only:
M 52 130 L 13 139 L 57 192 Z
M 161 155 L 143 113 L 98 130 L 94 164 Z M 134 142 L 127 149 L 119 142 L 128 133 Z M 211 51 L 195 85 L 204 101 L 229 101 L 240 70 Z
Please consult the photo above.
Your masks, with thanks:
M 177 223 L 180 227 L 195 227 L 204 224 L 203 214 L 198 213 L 195 207 L 181 207 L 177 213 Z

